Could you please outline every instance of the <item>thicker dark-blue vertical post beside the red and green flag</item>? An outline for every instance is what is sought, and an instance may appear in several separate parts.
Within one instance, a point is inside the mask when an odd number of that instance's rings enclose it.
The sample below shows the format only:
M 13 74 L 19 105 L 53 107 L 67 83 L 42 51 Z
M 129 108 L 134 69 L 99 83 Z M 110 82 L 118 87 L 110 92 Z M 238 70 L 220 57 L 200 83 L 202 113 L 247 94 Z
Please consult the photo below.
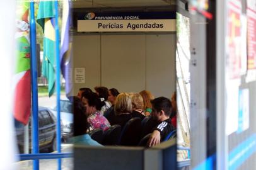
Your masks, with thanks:
M 38 145 L 38 88 L 37 88 L 37 37 L 35 28 L 35 10 L 33 1 L 30 2 L 30 52 L 32 77 L 32 144 L 33 154 L 39 153 Z M 33 170 L 39 169 L 39 160 L 33 160 Z

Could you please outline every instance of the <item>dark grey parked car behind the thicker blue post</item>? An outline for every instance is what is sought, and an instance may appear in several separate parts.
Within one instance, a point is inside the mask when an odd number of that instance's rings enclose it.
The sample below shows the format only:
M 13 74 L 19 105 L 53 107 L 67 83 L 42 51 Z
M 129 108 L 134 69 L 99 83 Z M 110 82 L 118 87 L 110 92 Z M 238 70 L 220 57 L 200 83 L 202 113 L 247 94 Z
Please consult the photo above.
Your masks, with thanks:
M 15 121 L 16 137 L 20 153 L 24 149 L 24 125 Z M 28 122 L 29 150 L 32 150 L 31 120 Z M 38 107 L 38 140 L 39 149 L 56 150 L 56 118 L 48 108 Z

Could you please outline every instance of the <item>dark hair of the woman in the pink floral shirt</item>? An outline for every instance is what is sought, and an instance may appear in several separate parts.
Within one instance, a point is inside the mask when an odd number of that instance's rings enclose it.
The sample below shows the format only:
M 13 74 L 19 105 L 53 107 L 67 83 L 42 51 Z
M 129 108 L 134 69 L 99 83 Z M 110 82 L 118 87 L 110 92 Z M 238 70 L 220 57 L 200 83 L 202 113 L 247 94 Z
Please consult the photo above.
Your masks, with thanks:
M 104 101 L 101 101 L 96 93 L 83 93 L 82 99 L 86 98 L 88 100 L 89 106 L 95 106 L 96 110 L 101 110 L 102 106 L 105 105 Z

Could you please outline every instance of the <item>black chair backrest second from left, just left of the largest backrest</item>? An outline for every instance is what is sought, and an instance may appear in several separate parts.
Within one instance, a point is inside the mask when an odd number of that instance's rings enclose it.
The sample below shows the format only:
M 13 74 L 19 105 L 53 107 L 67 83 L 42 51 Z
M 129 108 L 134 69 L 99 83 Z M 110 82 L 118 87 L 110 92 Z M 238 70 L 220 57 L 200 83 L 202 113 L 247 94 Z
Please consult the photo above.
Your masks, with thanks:
M 103 133 L 103 145 L 118 145 L 122 128 L 120 125 L 113 125 Z

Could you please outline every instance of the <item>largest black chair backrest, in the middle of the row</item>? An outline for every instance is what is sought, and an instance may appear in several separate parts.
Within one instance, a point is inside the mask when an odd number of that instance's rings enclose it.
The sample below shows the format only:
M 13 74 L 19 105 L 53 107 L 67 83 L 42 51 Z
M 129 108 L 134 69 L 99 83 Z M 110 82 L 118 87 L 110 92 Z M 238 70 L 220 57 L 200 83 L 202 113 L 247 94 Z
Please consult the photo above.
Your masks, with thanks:
M 141 118 L 129 120 L 121 133 L 120 145 L 136 146 L 141 138 Z

